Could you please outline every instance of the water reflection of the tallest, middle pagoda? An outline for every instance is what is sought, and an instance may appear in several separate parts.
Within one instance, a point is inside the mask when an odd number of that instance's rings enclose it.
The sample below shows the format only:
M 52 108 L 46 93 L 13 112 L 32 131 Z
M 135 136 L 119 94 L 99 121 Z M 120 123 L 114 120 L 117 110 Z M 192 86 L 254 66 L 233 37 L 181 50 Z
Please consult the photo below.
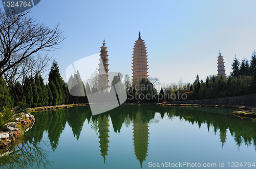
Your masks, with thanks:
M 138 111 L 133 124 L 133 140 L 134 150 L 137 159 L 140 161 L 140 167 L 142 168 L 142 162 L 146 160 L 147 146 L 148 146 L 148 124 L 143 120 L 142 113 Z

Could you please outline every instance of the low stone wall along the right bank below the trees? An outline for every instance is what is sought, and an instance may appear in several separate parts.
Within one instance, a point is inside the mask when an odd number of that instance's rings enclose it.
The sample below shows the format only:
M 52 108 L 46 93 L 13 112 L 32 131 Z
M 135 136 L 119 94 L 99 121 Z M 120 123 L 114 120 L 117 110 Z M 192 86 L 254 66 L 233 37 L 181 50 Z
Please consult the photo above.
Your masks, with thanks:
M 256 94 L 236 97 L 226 97 L 219 99 L 175 101 L 169 104 L 207 104 L 207 105 L 238 105 L 256 107 Z

